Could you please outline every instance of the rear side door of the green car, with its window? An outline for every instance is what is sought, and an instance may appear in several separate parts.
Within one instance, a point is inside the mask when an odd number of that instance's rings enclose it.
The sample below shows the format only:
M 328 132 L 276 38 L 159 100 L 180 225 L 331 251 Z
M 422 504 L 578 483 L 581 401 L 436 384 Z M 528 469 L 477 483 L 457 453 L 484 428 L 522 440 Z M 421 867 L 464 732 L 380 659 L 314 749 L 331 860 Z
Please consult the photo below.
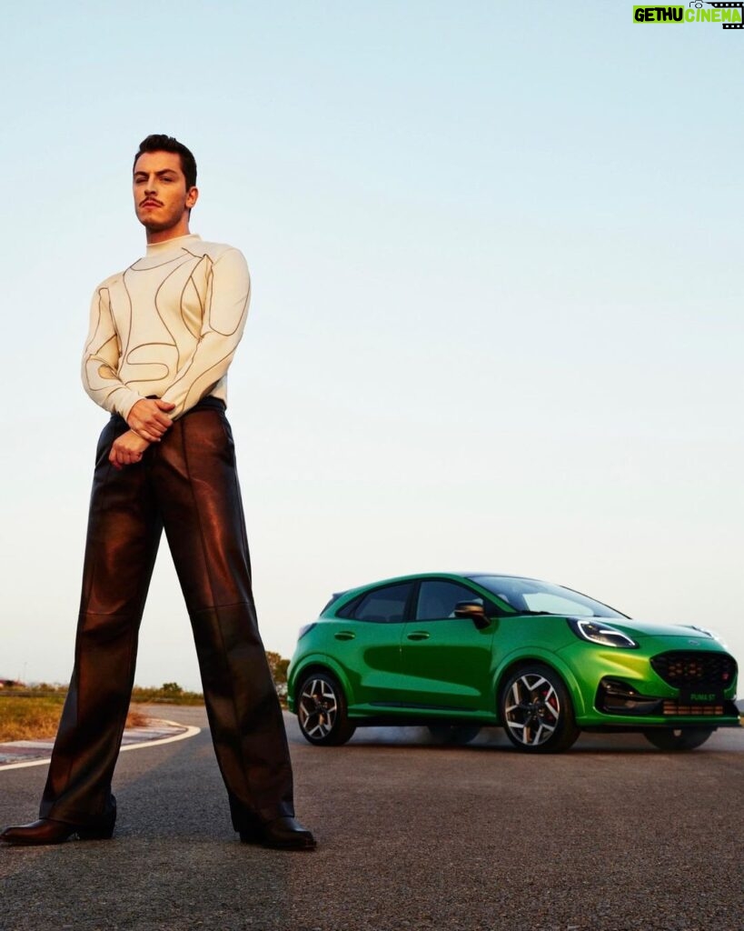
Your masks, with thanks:
M 352 705 L 400 700 L 401 640 L 413 583 L 373 588 L 340 609 L 328 648 L 352 687 Z

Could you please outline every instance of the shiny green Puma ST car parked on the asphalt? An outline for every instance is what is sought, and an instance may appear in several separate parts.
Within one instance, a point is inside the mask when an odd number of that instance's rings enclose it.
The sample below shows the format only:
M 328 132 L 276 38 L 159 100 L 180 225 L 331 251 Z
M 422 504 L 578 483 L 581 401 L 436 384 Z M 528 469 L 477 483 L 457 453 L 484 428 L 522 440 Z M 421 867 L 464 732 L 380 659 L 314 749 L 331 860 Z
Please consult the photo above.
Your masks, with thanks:
M 423 724 L 441 742 L 500 726 L 528 752 L 580 731 L 693 749 L 738 727 L 737 663 L 702 627 L 633 621 L 570 588 L 427 573 L 334 595 L 299 631 L 287 700 L 312 744 Z

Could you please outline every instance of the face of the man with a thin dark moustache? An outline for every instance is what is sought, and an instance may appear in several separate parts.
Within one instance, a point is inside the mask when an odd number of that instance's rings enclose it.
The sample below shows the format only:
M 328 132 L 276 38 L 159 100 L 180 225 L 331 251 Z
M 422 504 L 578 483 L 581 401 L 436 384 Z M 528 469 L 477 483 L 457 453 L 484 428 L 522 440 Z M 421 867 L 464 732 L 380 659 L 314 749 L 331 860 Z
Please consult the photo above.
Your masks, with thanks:
M 134 167 L 132 189 L 137 219 L 151 233 L 187 226 L 199 192 L 187 189 L 175 152 L 144 152 Z

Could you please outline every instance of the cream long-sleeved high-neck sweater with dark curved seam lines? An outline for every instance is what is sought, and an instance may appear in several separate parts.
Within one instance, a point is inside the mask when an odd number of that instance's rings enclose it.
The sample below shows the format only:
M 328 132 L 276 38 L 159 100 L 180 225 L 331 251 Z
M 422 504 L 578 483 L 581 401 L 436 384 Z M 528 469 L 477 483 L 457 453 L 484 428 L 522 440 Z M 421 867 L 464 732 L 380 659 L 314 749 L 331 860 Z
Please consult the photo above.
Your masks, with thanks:
M 249 301 L 246 260 L 231 246 L 195 235 L 148 246 L 93 294 L 86 392 L 125 420 L 148 396 L 175 404 L 174 418 L 206 395 L 226 401 Z

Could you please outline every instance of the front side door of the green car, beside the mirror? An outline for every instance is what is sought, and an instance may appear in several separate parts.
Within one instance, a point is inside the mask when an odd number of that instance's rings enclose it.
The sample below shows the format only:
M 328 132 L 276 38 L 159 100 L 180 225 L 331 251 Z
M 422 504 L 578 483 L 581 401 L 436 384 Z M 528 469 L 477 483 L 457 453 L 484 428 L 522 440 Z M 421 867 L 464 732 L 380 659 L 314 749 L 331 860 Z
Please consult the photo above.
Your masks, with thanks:
M 403 631 L 405 704 L 458 710 L 495 708 L 491 694 L 491 651 L 496 624 L 475 627 L 455 617 L 458 601 L 483 602 L 467 586 L 447 579 L 422 579 L 414 619 Z

